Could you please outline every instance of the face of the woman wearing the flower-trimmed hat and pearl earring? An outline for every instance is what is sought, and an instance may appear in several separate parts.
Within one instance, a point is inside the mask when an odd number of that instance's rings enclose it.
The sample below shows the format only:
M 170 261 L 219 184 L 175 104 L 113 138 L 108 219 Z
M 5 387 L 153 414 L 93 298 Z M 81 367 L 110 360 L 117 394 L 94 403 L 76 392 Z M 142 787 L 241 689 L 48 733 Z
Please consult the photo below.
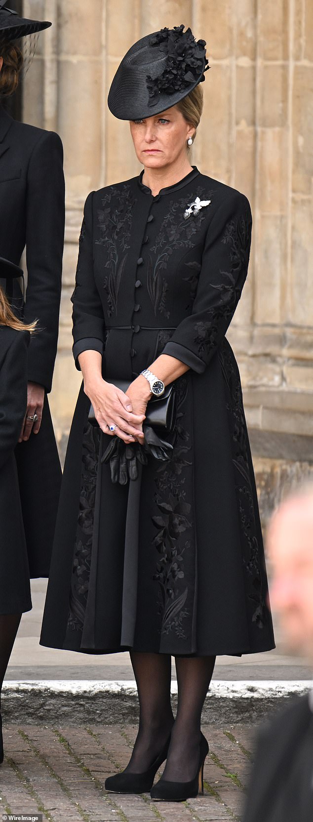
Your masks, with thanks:
M 131 120 L 136 155 L 148 169 L 161 169 L 186 155 L 188 137 L 195 127 L 186 122 L 177 106 L 143 120 Z

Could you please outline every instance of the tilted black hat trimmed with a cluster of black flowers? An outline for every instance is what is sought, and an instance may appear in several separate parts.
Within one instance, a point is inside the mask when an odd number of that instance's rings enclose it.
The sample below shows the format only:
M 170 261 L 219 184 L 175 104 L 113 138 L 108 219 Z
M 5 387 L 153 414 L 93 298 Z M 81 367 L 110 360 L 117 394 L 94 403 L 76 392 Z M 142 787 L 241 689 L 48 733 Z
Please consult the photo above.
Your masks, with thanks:
M 189 95 L 209 68 L 205 40 L 184 25 L 137 41 L 122 59 L 108 92 L 108 108 L 120 120 L 152 117 Z

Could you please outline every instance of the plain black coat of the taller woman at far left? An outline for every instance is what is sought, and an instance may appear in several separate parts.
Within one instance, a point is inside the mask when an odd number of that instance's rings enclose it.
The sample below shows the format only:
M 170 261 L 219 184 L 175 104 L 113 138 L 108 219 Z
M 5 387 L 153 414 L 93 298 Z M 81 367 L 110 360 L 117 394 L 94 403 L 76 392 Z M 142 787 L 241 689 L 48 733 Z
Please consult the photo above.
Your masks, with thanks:
M 54 132 L 16 122 L 0 106 L 0 255 L 17 265 L 26 247 L 24 317 L 39 320 L 31 339 L 28 379 L 51 390 L 58 343 L 64 240 L 62 142 Z M 16 308 L 21 290 L 7 294 Z M 39 434 L 16 446 L 30 575 L 48 576 L 61 466 L 48 399 Z

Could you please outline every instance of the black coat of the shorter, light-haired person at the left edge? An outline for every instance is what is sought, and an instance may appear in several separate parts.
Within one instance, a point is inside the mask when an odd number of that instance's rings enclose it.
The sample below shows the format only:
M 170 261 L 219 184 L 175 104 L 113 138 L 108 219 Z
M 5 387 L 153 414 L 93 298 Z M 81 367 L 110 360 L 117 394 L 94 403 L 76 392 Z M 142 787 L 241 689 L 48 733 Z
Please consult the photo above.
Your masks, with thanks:
M 0 614 L 30 611 L 30 571 L 14 449 L 27 401 L 28 331 L 0 326 Z

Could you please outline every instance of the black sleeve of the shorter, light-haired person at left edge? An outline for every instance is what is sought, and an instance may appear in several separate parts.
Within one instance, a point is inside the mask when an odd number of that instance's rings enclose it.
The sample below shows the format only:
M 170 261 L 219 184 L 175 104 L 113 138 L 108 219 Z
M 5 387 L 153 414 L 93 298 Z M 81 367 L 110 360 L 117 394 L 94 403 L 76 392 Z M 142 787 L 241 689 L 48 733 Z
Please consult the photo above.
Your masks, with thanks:
M 16 446 L 27 404 L 29 331 L 16 331 L 0 369 L 0 469 Z

